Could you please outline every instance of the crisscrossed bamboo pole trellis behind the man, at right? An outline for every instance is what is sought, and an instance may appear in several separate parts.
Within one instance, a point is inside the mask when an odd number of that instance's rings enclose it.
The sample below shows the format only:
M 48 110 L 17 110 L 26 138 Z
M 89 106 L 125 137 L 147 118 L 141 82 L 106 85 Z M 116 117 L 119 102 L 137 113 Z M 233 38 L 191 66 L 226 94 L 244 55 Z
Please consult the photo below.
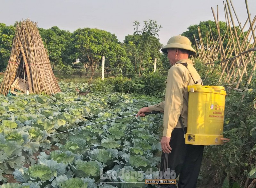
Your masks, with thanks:
M 251 19 L 247 0 L 245 0 L 248 18 L 244 25 L 241 25 L 232 1 L 226 0 L 226 4 L 223 2 L 223 5 L 226 18 L 226 33 L 224 35 L 220 33 L 218 6 L 217 18 L 212 8 L 218 38 L 214 39 L 212 28 L 210 27 L 210 32 L 207 31 L 204 33 L 206 39 L 204 38 L 203 41 L 200 27 L 198 27 L 199 40 L 196 40 L 194 36 L 196 41 L 195 48 L 198 51 L 197 57 L 208 67 L 206 76 L 212 73 L 216 67 L 221 66 L 222 71 L 220 73 L 219 82 L 231 82 L 236 88 L 239 88 L 243 80 L 246 82 L 245 89 L 247 89 L 256 68 L 256 16 Z M 234 18 L 236 18 L 236 21 L 233 18 L 233 14 L 235 15 Z M 248 23 L 249 29 L 245 32 L 245 28 L 248 28 Z M 223 44 L 224 41 L 226 42 L 225 45 Z

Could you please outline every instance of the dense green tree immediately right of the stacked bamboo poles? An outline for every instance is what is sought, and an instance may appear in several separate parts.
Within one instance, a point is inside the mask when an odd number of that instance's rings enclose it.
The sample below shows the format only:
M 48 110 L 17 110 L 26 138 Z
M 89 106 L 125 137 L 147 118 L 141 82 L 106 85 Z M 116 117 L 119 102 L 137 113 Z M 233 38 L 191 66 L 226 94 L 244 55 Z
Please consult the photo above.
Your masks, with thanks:
M 50 61 L 55 65 L 71 65 L 73 59 L 73 39 L 72 33 L 60 30 L 59 27 L 53 26 L 50 29 L 39 28 L 44 46 L 47 48 Z

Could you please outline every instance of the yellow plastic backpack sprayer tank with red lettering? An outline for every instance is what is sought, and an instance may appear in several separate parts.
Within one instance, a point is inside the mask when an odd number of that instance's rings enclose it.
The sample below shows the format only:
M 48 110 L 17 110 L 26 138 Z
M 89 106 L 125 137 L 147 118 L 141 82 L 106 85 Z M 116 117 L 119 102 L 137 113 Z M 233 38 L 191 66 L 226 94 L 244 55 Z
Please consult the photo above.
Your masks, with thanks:
M 226 91 L 222 86 L 188 86 L 188 127 L 186 144 L 223 144 Z

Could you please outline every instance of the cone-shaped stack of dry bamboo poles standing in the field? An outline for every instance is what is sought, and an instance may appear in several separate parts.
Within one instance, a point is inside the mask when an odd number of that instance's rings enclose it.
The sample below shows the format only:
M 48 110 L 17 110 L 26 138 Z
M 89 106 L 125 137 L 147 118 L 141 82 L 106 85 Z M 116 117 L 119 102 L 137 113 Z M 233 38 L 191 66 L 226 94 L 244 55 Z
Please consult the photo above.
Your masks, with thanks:
M 29 19 L 16 26 L 10 60 L 0 85 L 0 94 L 7 95 L 17 77 L 28 82 L 30 93 L 44 92 L 51 95 L 61 92 L 37 23 Z

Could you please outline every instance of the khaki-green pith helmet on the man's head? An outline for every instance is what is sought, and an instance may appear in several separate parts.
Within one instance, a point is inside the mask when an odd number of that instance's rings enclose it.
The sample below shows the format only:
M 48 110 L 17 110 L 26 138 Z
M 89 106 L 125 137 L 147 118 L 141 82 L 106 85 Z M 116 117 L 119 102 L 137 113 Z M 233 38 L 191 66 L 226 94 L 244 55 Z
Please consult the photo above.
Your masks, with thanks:
M 189 55 L 196 54 L 196 50 L 191 46 L 191 42 L 187 37 L 177 35 L 168 40 L 167 44 L 162 47 L 162 52 L 167 54 L 168 48 L 180 48 L 189 51 Z

